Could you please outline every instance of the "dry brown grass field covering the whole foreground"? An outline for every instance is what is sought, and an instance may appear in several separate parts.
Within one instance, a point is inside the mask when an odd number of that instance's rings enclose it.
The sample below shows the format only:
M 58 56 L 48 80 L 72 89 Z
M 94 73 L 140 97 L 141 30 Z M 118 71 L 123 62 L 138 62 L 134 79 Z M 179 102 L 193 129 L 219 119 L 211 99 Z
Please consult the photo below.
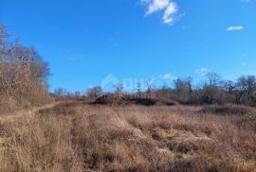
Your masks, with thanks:
M 62 103 L 0 116 L 0 171 L 254 171 L 256 110 Z

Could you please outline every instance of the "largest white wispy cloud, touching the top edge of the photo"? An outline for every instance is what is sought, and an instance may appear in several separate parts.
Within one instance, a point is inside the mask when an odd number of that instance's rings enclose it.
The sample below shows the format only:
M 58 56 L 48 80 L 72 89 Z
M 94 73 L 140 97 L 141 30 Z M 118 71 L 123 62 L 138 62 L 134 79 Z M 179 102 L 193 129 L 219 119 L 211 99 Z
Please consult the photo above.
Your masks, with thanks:
M 148 6 L 146 16 L 155 12 L 163 11 L 162 20 L 165 24 L 174 23 L 174 13 L 178 10 L 172 0 L 140 0 Z

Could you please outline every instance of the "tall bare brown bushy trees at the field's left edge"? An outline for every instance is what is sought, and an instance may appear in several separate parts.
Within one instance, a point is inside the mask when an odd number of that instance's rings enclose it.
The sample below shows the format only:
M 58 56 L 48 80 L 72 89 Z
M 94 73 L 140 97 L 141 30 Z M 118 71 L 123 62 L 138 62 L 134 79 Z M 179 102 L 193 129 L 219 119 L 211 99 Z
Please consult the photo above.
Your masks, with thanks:
M 1 108 L 48 101 L 49 75 L 48 63 L 35 48 L 10 41 L 10 34 L 0 25 Z

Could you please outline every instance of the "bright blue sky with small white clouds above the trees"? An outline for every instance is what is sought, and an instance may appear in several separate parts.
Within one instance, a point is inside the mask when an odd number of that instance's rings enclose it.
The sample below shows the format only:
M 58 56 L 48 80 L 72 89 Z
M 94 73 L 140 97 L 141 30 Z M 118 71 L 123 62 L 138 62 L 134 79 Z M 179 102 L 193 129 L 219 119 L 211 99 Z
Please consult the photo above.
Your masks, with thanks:
M 51 90 L 256 75 L 255 0 L 0 0 L 0 23 L 49 61 Z

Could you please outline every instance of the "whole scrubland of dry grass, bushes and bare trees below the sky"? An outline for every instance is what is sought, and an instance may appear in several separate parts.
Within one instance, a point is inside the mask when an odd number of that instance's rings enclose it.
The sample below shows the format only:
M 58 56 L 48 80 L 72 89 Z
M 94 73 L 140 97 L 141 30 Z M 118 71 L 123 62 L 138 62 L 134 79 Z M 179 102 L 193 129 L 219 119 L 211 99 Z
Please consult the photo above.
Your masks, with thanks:
M 50 93 L 49 63 L 14 40 L 0 24 L 0 171 L 255 171 L 255 76 Z

